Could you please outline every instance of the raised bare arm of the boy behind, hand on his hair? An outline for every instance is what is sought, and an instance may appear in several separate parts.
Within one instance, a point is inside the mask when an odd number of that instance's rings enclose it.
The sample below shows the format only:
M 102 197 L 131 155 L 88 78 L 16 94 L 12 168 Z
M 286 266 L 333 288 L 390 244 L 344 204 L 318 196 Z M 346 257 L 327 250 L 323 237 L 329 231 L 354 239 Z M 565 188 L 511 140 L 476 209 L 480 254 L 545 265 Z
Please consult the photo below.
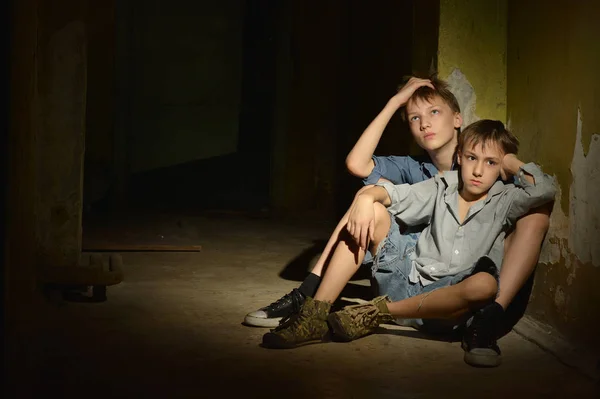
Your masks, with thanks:
M 365 178 L 371 174 L 375 166 L 373 154 L 375 153 L 377 144 L 379 144 L 383 131 L 396 111 L 407 103 L 415 90 L 422 86 L 434 88 L 429 79 L 413 77 L 402 87 L 398 94 L 387 102 L 386 106 L 365 129 L 346 157 L 346 167 L 350 173 L 361 178 Z

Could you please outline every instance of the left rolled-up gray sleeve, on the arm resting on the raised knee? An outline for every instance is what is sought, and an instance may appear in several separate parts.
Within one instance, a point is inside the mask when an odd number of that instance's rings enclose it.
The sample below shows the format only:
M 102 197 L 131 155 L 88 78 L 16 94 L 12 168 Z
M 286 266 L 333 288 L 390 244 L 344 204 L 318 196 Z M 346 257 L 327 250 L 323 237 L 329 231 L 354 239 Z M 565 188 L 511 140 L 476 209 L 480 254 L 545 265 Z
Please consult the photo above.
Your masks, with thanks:
M 436 179 L 428 179 L 416 184 L 378 183 L 390 196 L 389 212 L 408 225 L 429 223 L 437 196 Z

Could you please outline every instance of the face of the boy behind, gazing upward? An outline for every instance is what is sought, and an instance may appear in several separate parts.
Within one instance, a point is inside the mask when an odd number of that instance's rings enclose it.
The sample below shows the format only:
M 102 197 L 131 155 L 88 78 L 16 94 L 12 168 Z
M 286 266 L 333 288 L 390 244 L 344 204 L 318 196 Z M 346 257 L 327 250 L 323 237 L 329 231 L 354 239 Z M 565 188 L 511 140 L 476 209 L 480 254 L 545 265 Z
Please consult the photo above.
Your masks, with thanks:
M 437 151 L 456 146 L 456 130 L 462 125 L 462 116 L 454 112 L 440 96 L 430 101 L 416 99 L 406 104 L 408 126 L 417 144 L 426 151 Z

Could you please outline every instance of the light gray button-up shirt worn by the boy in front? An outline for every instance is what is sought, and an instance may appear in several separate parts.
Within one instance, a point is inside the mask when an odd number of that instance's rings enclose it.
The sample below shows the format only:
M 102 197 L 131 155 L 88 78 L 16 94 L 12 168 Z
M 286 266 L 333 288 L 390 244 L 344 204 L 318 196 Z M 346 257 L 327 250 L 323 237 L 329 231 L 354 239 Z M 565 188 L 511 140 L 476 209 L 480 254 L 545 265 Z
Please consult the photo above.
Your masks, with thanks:
M 533 176 L 529 183 L 523 172 Z M 458 212 L 458 171 L 449 171 L 413 185 L 378 183 L 392 201 L 389 212 L 407 225 L 427 223 L 412 254 L 410 281 L 431 284 L 468 270 L 482 256 L 498 267 L 504 255 L 506 231 L 531 208 L 554 199 L 554 178 L 534 163 L 523 165 L 515 184 L 497 181 L 485 199 L 471 206 L 461 223 Z

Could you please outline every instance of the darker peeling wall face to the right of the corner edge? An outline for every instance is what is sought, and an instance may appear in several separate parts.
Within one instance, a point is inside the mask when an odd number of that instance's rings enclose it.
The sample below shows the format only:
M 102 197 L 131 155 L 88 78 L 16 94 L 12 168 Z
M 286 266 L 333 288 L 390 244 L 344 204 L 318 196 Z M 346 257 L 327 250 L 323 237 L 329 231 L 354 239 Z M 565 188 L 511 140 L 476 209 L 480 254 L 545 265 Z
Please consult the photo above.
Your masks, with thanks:
M 560 185 L 528 313 L 588 348 L 600 334 L 598 15 L 598 2 L 508 6 L 508 117 L 521 157 Z

